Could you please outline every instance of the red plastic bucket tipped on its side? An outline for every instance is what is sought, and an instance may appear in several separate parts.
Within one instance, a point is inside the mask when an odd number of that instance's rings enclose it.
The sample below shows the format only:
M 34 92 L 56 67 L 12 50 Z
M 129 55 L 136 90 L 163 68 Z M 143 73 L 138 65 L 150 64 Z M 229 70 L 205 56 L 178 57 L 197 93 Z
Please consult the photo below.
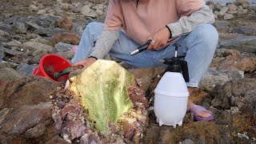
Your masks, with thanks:
M 39 62 L 39 66 L 34 69 L 32 75 L 50 78 L 54 81 L 65 82 L 69 79 L 69 75 L 62 75 L 60 78 L 54 78 L 54 74 L 70 67 L 71 64 L 65 58 L 56 54 L 46 54 Z

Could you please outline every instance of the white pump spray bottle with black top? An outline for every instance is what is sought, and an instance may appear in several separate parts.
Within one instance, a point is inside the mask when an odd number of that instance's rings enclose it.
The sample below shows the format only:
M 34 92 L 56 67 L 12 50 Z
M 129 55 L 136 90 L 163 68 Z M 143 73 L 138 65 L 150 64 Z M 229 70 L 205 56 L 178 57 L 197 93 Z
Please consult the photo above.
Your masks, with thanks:
M 189 97 L 186 82 L 189 82 L 189 74 L 187 62 L 177 57 L 178 46 L 175 46 L 174 58 L 161 60 L 169 66 L 154 90 L 154 114 L 159 126 L 182 126 L 182 119 L 186 115 Z

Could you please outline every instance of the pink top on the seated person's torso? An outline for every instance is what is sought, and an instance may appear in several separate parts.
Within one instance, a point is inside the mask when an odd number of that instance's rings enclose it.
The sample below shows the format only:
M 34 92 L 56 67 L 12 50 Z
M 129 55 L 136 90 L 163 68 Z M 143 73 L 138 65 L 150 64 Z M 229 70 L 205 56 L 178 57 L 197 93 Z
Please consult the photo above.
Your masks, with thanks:
M 110 0 L 104 30 L 123 28 L 139 44 L 167 24 L 178 22 L 205 5 L 203 0 Z

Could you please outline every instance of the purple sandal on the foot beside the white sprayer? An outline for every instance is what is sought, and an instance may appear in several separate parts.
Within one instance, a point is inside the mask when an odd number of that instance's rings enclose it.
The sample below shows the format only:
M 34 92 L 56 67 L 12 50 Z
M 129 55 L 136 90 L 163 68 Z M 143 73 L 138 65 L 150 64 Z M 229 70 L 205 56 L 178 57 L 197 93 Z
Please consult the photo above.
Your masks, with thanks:
M 200 111 L 207 111 L 210 116 L 206 118 L 202 118 L 198 115 L 198 112 Z M 194 113 L 194 118 L 198 121 L 210 121 L 214 119 L 214 114 L 210 110 L 206 110 L 203 106 L 193 105 L 190 107 L 190 112 Z

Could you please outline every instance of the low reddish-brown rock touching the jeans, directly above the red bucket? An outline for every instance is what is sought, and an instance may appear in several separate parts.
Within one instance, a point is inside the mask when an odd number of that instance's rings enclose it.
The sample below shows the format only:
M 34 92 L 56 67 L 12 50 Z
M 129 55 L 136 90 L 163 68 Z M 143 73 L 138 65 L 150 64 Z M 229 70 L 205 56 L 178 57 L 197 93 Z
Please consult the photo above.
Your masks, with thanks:
M 78 45 L 78 43 L 80 42 L 80 38 L 78 38 L 77 35 L 70 33 L 54 34 L 54 43 L 58 42 Z

